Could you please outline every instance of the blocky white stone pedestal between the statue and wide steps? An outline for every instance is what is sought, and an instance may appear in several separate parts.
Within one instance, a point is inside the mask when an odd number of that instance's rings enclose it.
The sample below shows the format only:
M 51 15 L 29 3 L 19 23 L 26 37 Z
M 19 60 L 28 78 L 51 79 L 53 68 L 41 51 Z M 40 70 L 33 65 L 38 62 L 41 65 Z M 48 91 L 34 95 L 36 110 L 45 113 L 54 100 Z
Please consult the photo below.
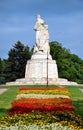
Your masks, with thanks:
M 45 54 L 35 54 L 32 56 L 31 60 L 27 62 L 25 79 L 34 79 L 35 82 L 40 79 L 57 79 L 58 70 L 55 60 L 52 60 L 51 55 L 48 56 Z M 41 84 L 41 83 L 40 83 Z

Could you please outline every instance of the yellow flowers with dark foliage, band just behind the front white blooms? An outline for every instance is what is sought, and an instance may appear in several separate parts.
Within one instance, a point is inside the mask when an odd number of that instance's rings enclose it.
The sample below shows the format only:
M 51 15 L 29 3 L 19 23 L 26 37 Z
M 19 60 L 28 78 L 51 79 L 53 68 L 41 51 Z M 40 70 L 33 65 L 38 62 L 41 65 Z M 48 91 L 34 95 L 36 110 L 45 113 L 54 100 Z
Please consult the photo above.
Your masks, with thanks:
M 34 124 L 36 124 L 40 126 L 40 128 L 41 128 L 41 125 L 48 125 L 49 129 L 55 130 L 55 129 L 52 129 L 52 126 L 50 127 L 50 125 L 53 123 L 55 123 L 55 126 L 56 124 L 58 124 L 59 130 L 65 130 L 64 126 L 68 126 L 67 128 L 72 128 L 72 130 L 83 130 L 82 129 L 83 121 L 80 118 L 80 116 L 76 115 L 74 112 L 50 112 L 48 113 L 48 112 L 38 112 L 38 111 L 32 111 L 27 114 L 6 115 L 0 121 L 0 125 L 1 125 L 0 128 L 1 130 L 6 130 L 6 129 L 2 129 L 2 127 L 8 126 L 9 128 L 11 126 L 16 126 L 16 124 L 18 126 L 25 125 L 27 127 L 33 124 L 33 130 L 36 130 L 34 129 Z M 60 129 L 59 125 L 63 126 L 63 129 Z M 49 129 L 46 129 L 46 130 L 49 130 Z M 22 129 L 19 129 L 19 130 L 22 130 Z M 23 130 L 26 130 L 26 129 L 23 129 Z M 28 129 L 28 130 L 31 130 L 31 129 Z M 39 129 L 39 130 L 42 130 L 42 129 Z

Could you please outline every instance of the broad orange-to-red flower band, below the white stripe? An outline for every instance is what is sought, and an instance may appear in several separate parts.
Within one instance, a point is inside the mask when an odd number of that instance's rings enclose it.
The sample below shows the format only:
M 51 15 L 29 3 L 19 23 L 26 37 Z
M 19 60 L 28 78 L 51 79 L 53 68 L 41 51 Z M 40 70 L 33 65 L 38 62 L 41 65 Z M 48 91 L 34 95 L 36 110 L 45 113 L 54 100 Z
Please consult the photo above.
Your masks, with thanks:
M 18 99 L 12 103 L 10 114 L 23 114 L 37 110 L 40 112 L 73 111 L 71 100 L 67 98 Z

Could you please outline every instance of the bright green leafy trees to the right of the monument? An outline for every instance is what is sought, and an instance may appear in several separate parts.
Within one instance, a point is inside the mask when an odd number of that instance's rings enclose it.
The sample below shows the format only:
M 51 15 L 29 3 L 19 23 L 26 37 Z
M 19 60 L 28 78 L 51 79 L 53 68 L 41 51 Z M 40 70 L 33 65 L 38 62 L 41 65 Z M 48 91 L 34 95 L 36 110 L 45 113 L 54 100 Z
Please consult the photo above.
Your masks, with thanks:
M 50 53 L 58 65 L 59 77 L 83 83 L 83 60 L 58 42 L 50 42 Z

